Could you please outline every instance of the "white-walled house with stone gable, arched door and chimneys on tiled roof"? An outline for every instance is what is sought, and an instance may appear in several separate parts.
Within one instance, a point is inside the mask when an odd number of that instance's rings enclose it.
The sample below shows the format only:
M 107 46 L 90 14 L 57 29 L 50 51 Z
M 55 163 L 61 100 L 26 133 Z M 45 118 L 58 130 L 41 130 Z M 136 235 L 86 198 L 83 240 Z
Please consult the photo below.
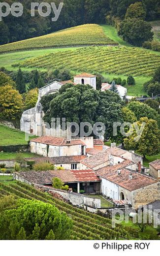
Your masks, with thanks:
M 115 200 L 127 200 L 133 209 L 137 209 L 160 199 L 160 182 L 132 170 L 134 164 L 130 160 L 125 160 L 118 165 L 98 169 L 96 175 L 101 179 L 103 195 Z

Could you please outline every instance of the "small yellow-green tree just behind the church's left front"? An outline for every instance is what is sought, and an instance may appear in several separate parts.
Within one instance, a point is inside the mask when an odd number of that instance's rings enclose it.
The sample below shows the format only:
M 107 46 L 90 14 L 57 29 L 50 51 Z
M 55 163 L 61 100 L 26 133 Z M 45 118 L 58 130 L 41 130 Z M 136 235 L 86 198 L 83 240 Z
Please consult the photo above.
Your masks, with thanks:
M 35 88 L 27 93 L 25 98 L 25 108 L 30 109 L 35 107 L 37 100 L 38 100 L 38 89 Z

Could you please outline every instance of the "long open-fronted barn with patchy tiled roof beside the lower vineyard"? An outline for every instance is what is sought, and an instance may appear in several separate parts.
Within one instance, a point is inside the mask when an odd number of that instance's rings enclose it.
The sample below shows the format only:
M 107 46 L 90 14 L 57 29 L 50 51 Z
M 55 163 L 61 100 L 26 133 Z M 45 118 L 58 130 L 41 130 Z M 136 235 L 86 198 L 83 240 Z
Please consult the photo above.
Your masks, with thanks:
M 30 185 L 51 186 L 55 177 L 77 193 L 81 190 L 85 193 L 100 193 L 100 179 L 93 170 L 25 171 L 15 173 L 14 179 Z

